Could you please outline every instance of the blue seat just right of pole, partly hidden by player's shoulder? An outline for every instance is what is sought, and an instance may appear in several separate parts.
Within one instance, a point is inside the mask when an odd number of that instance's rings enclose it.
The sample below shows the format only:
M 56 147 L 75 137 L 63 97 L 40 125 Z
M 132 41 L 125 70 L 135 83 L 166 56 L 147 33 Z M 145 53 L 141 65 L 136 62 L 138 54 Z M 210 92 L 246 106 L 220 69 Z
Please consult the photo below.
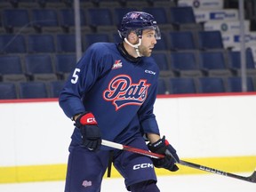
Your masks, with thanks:
M 86 34 L 84 36 L 84 51 L 93 43 L 97 42 L 109 42 L 108 34 Z

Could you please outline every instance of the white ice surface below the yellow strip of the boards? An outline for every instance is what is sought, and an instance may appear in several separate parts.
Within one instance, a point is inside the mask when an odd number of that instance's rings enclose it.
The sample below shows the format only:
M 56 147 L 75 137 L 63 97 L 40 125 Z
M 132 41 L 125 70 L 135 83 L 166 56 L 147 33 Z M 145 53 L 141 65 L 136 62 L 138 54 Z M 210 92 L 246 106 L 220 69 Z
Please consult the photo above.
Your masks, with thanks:
M 247 176 L 250 173 L 241 175 Z M 0 184 L 0 192 L 63 192 L 64 181 Z M 256 183 L 217 174 L 159 176 L 161 192 L 256 192 Z M 104 179 L 101 192 L 126 192 L 123 179 Z

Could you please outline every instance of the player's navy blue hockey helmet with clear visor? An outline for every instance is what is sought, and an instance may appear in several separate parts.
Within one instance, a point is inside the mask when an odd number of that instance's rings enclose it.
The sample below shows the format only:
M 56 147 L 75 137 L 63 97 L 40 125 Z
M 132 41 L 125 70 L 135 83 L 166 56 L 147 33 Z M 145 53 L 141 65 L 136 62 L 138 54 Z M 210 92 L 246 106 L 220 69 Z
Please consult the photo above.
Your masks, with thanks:
M 118 33 L 121 38 L 127 37 L 131 31 L 137 36 L 142 36 L 142 31 L 152 28 L 156 31 L 156 39 L 161 39 L 160 29 L 156 25 L 155 18 L 148 12 L 128 12 L 118 26 Z

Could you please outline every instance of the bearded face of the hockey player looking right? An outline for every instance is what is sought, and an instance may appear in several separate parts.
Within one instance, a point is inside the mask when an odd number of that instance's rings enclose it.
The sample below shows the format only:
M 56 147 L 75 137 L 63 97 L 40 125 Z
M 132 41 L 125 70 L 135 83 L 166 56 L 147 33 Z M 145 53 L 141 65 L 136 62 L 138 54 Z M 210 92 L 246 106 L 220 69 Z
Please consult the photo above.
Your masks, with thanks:
M 146 29 L 142 32 L 142 41 L 139 46 L 141 56 L 149 57 L 156 44 L 156 31 L 153 29 Z

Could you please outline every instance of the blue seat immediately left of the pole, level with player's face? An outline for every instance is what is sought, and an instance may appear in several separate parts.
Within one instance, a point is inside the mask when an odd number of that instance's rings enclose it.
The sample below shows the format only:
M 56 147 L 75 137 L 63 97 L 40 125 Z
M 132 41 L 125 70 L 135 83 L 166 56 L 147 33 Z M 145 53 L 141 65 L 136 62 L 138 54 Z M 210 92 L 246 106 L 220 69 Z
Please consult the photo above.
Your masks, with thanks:
M 56 35 L 57 52 L 76 52 L 76 36 L 74 34 Z

